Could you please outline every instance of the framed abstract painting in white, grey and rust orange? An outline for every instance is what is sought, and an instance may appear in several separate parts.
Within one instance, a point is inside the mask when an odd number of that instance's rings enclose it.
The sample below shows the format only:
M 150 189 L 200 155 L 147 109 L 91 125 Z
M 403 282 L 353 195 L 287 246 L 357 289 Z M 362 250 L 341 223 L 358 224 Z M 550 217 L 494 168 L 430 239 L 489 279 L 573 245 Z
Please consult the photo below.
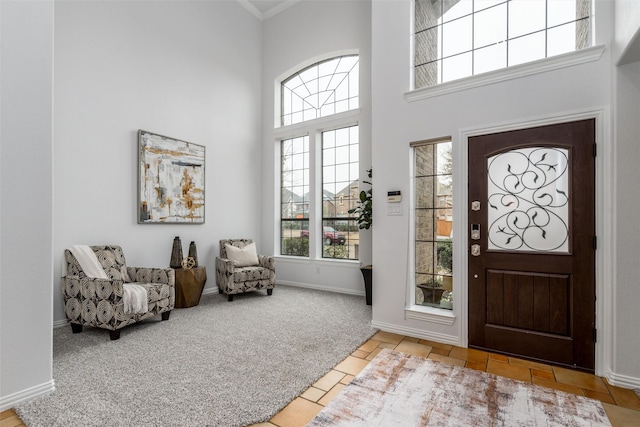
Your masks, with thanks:
M 205 147 L 138 131 L 138 224 L 203 224 Z

